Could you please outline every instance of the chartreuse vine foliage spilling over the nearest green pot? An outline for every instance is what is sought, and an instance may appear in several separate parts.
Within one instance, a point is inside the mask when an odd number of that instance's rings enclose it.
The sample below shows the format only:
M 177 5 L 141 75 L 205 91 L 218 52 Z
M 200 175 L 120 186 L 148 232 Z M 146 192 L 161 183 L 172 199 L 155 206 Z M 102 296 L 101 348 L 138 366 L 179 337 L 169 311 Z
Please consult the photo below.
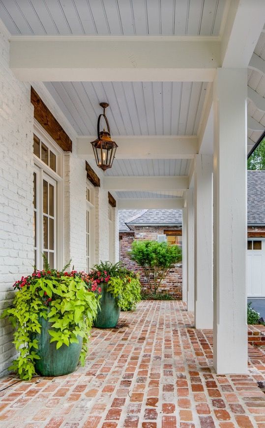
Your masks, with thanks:
M 51 342 L 57 342 L 57 349 L 63 344 L 78 343 L 78 336 L 83 337 L 80 362 L 84 365 L 89 332 L 99 306 L 98 293 L 89 291 L 89 285 L 85 273 L 56 270 L 35 271 L 15 283 L 18 291 L 13 304 L 1 315 L 1 318 L 8 317 L 15 328 L 14 344 L 19 352 L 10 370 L 24 380 L 31 379 L 35 373 L 40 317 L 50 321 L 49 334 Z

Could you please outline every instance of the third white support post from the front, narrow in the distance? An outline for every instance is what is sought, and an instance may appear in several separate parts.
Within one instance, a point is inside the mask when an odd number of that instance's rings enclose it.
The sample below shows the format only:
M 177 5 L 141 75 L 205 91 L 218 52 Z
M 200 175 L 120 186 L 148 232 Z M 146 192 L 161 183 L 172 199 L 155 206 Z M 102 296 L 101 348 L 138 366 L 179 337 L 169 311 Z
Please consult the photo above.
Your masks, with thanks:
M 194 311 L 194 189 L 187 190 L 187 310 Z

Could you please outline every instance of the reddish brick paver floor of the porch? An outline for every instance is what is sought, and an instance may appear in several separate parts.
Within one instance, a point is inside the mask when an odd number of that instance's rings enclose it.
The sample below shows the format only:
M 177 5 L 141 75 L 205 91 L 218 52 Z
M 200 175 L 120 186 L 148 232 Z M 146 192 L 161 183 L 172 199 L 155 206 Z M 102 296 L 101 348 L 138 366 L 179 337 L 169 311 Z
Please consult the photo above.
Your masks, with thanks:
M 59 378 L 0 379 L 0 427 L 265 427 L 263 348 L 249 374 L 217 376 L 212 331 L 182 302 L 141 302 L 118 328 L 93 329 L 86 367 Z

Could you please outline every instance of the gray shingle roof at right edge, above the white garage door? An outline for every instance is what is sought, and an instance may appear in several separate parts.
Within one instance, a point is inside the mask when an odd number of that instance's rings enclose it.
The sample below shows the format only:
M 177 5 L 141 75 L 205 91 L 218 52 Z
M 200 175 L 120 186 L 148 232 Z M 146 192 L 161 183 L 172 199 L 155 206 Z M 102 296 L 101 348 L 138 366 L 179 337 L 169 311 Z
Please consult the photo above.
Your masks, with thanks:
M 265 171 L 247 172 L 247 222 L 265 224 Z

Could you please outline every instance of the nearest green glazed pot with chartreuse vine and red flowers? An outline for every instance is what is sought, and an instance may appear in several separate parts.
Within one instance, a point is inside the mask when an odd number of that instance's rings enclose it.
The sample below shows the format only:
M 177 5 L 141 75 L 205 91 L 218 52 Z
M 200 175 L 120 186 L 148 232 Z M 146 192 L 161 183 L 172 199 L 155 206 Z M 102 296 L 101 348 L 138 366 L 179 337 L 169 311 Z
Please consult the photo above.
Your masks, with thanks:
M 70 263 L 69 263 L 70 264 Z M 97 315 L 99 294 L 87 274 L 72 270 L 35 270 L 16 281 L 13 304 L 1 316 L 15 327 L 14 344 L 19 356 L 10 370 L 21 379 L 61 376 L 84 365 L 88 336 Z

